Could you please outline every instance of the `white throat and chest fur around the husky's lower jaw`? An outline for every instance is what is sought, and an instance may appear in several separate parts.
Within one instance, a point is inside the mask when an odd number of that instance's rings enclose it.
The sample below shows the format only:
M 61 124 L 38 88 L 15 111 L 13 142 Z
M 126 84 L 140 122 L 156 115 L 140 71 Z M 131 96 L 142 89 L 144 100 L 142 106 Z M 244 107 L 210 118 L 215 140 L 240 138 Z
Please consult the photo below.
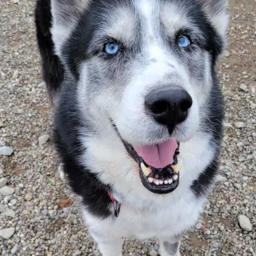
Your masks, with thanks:
M 108 132 L 110 130 L 106 130 Z M 195 198 L 190 184 L 213 158 L 209 139 L 209 134 L 197 134 L 189 142 L 181 144 L 180 185 L 166 195 L 152 194 L 142 186 L 133 160 L 126 155 L 122 143 L 114 142 L 111 135 L 107 138 L 102 134 L 102 138 L 84 141 L 88 147 L 86 159 L 90 159 L 86 166 L 98 173 L 102 182 L 111 182 L 114 198 L 122 203 L 121 213 L 114 219 L 99 220 L 83 210 L 86 225 L 92 230 L 94 239 L 99 244 L 107 243 L 114 250 L 122 237 L 135 234 L 137 238 L 170 238 L 194 225 L 206 198 Z M 103 255 L 118 254 L 106 251 Z

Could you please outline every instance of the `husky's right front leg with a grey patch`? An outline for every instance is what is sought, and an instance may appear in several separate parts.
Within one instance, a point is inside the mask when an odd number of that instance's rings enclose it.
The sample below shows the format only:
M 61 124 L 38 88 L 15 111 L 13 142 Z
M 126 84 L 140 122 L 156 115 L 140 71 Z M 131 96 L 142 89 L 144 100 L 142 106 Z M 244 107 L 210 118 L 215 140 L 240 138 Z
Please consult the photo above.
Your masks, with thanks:
M 180 256 L 179 247 L 181 246 L 182 237 L 178 238 L 159 238 L 161 256 Z

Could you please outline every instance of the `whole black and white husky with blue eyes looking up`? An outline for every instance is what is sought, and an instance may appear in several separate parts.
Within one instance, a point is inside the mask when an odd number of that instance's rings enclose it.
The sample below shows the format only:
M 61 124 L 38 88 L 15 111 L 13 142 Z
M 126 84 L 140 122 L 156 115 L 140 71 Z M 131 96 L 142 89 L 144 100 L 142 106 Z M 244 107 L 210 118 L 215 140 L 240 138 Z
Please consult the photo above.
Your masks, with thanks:
M 214 184 L 222 140 L 216 62 L 226 0 L 38 0 L 54 138 L 103 256 L 122 238 L 182 234 Z

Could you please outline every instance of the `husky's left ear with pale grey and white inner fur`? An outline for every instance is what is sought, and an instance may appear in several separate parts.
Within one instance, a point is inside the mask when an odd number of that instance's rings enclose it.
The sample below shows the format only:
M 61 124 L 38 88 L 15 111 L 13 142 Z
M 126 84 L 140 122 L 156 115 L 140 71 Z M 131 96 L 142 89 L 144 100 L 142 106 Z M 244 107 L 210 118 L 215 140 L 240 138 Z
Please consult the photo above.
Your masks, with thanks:
M 51 34 L 55 52 L 59 56 L 63 43 L 69 38 L 74 26 L 89 5 L 90 0 L 51 0 L 53 17 Z

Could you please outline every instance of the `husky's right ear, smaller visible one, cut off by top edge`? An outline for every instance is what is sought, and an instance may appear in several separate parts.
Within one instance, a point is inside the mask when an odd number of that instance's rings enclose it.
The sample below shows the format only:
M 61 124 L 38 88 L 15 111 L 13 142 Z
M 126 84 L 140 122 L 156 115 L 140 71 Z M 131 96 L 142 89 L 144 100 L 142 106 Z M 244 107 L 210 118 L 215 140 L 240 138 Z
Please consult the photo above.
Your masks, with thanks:
M 226 12 L 228 0 L 198 0 L 206 16 L 210 19 L 215 30 L 223 38 L 226 36 L 226 29 L 229 23 L 229 16 Z

